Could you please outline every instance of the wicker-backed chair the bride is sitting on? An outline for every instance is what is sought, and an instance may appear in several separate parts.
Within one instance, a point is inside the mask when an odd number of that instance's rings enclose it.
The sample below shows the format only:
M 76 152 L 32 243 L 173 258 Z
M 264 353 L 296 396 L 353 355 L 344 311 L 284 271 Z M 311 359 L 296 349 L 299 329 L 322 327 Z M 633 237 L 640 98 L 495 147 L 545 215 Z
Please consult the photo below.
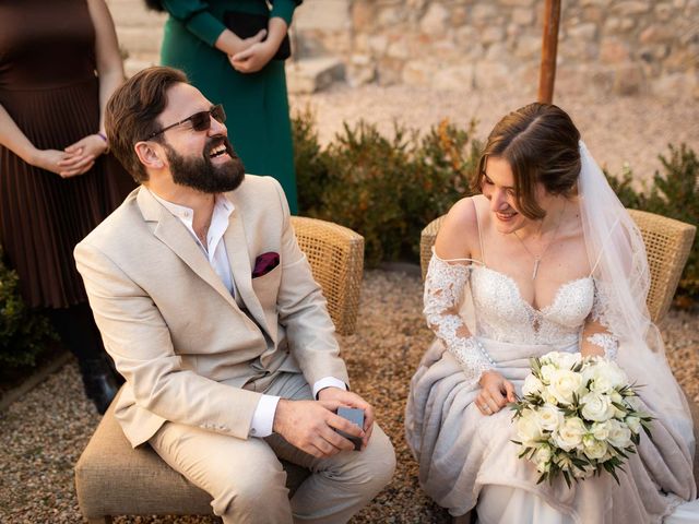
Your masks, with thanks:
M 697 228 L 645 211 L 629 210 L 629 214 L 641 230 L 645 243 L 651 272 L 647 305 L 651 319 L 659 323 L 670 309 Z M 435 238 L 443 218 L 443 216 L 435 218 L 420 234 L 419 258 L 423 279 L 425 279 Z M 689 400 L 689 408 L 695 421 L 695 436 L 699 436 L 699 406 Z M 695 450 L 695 478 L 699 479 L 699 439 Z

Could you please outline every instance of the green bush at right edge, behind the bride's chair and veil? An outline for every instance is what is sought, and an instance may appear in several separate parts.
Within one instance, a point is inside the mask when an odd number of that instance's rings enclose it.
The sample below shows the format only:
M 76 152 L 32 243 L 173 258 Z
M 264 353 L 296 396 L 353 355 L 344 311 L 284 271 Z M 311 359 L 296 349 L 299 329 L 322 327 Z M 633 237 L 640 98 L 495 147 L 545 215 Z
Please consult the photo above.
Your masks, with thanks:
M 686 144 L 667 146 L 670 153 L 659 155 L 663 172 L 655 171 L 650 189 L 636 190 L 628 166 L 620 176 L 605 172 L 612 188 L 626 207 L 649 211 L 699 226 L 699 158 Z M 699 238 L 689 251 L 689 259 L 679 282 L 679 294 L 699 299 Z

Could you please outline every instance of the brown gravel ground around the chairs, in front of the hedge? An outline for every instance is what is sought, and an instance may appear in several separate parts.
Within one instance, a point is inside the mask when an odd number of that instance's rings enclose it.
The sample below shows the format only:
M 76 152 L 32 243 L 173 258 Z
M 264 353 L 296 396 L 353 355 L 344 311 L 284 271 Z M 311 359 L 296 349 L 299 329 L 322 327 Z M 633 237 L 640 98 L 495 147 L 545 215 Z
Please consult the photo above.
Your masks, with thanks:
M 407 273 L 367 271 L 357 332 L 341 337 L 353 389 L 377 409 L 393 441 L 398 471 L 393 481 L 352 522 L 447 523 L 447 513 L 420 491 L 403 439 L 403 409 L 410 378 L 431 340 L 422 318 L 417 267 Z M 671 311 L 661 326 L 671 365 L 699 401 L 699 317 Z M 84 397 L 74 364 L 49 377 L 0 413 L 0 522 L 81 522 L 73 464 L 99 421 Z M 217 522 L 213 517 L 118 517 L 117 523 Z

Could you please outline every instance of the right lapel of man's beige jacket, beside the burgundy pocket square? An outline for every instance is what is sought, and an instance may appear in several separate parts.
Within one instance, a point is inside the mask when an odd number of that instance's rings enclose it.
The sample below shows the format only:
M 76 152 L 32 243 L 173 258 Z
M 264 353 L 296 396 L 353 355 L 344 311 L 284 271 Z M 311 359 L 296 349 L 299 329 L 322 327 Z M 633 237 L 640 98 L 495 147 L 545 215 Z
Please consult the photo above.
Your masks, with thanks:
M 245 302 L 248 311 L 254 317 L 258 324 L 270 333 L 264 318 L 262 305 L 258 300 L 252 289 L 252 267 L 250 266 L 250 254 L 248 251 L 248 242 L 242 227 L 242 219 L 238 207 L 234 207 L 228 218 L 228 229 L 223 236 L 226 245 L 226 253 L 233 272 L 233 281 L 235 282 L 236 291 L 240 294 L 240 298 Z

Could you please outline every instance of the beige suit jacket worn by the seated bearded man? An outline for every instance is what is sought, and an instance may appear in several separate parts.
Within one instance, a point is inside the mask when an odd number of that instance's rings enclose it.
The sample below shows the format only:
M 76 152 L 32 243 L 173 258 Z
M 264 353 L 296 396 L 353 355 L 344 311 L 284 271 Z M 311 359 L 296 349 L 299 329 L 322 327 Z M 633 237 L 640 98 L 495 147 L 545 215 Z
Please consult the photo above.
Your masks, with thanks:
M 247 439 L 261 394 L 281 371 L 348 383 L 325 300 L 289 224 L 280 184 L 246 175 L 226 194 L 224 235 L 244 311 L 181 222 L 134 190 L 75 248 L 105 347 L 126 378 L 116 416 L 133 446 L 166 420 Z M 280 265 L 257 278 L 264 252 Z

